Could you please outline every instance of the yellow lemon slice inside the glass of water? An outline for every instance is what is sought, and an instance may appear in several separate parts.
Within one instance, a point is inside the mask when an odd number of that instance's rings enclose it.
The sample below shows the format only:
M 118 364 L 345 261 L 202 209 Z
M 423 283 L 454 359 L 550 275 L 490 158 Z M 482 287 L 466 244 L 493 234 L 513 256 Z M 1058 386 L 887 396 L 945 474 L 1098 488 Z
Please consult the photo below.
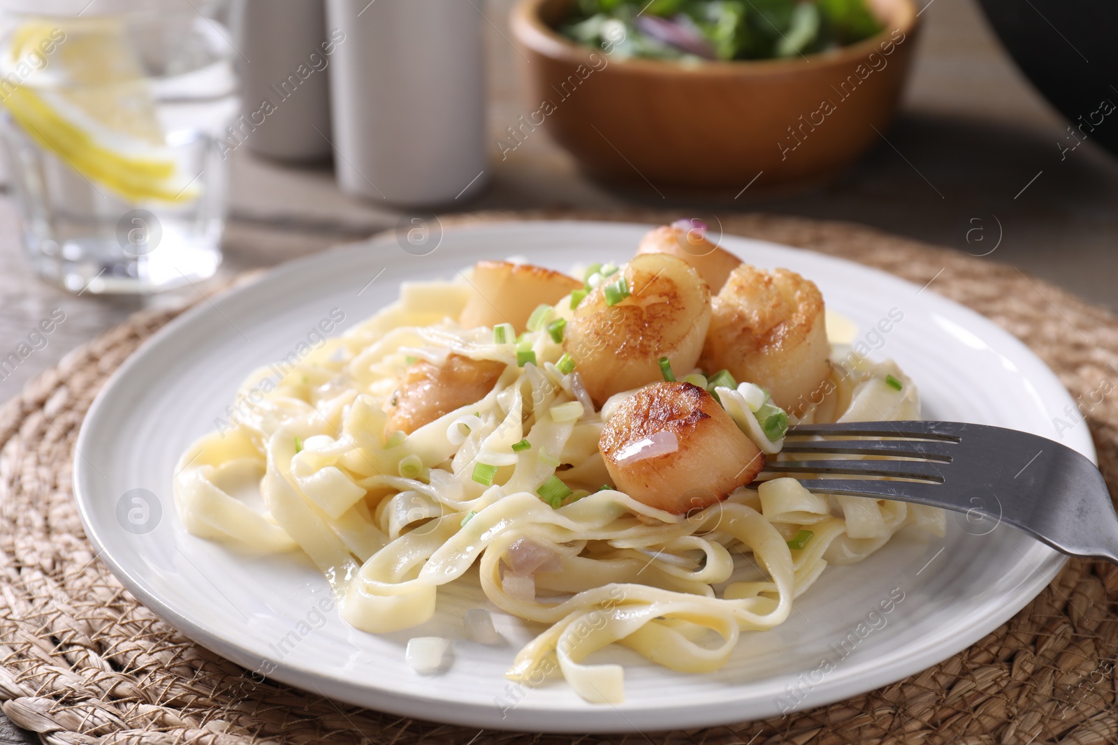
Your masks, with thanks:
M 38 50 L 56 28 L 28 21 L 16 29 L 8 66 Z M 130 202 L 198 195 L 167 147 L 143 68 L 120 21 L 97 19 L 66 29 L 48 67 L 55 85 L 19 85 L 3 102 L 31 139 Z

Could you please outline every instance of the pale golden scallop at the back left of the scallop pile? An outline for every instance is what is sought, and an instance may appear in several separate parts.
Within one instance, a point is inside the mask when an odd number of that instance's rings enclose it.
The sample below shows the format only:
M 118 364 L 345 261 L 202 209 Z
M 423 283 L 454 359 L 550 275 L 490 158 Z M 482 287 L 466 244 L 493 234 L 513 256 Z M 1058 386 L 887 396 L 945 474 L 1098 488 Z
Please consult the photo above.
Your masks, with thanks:
M 555 305 L 582 287 L 582 283 L 561 271 L 509 261 L 479 261 L 470 284 L 473 292 L 458 324 L 476 328 L 511 323 L 518 334 L 541 303 Z

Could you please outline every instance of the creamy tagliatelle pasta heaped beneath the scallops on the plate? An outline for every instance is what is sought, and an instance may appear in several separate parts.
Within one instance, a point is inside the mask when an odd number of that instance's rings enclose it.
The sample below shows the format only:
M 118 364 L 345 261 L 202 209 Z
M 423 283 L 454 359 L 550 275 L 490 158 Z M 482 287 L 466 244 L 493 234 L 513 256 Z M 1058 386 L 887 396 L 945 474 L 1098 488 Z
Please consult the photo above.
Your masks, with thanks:
M 240 397 L 228 426 L 182 455 L 174 497 L 186 527 L 304 552 L 344 620 L 373 633 L 428 620 L 438 589 L 474 581 L 476 565 L 494 605 L 541 624 L 509 677 L 557 669 L 595 703 L 624 698 L 622 668 L 588 659 L 608 644 L 673 670 L 716 670 L 742 631 L 784 622 L 828 564 L 864 558 L 906 525 L 942 534 L 939 510 L 812 495 L 790 479 L 740 486 L 685 514 L 610 488 L 599 439 L 627 394 L 598 404 L 587 394 L 562 334 L 579 298 L 518 336 L 461 327 L 473 292 L 468 281 L 406 284 L 398 303 L 282 374 L 250 376 L 244 389 L 258 394 Z M 443 370 L 455 355 L 503 370 L 476 399 L 394 431 L 407 371 Z M 708 395 L 707 375 L 693 362 L 686 372 L 675 385 L 685 378 Z M 709 390 L 740 431 L 779 458 L 784 431 L 771 422 L 785 412 L 748 382 L 711 380 L 727 383 Z M 916 386 L 894 363 L 850 356 L 800 420 L 918 417 Z M 246 479 L 258 479 L 260 505 L 231 496 Z

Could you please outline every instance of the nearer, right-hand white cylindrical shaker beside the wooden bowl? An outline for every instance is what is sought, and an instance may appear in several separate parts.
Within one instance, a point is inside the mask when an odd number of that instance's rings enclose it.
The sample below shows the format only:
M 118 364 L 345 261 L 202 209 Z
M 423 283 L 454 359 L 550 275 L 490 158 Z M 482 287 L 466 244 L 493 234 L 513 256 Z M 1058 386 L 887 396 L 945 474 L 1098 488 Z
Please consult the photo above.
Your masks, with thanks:
M 401 207 L 486 181 L 482 16 L 470 0 L 326 0 L 338 183 Z

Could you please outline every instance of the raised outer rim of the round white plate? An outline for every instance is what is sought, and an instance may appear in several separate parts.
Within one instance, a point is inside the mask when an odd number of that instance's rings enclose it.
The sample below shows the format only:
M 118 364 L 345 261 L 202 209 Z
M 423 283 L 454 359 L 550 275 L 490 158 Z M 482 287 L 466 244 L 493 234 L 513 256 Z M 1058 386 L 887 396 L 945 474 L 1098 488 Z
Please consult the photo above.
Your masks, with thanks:
M 654 227 L 652 223 L 643 222 L 627 222 L 627 221 L 612 221 L 612 220 L 500 220 L 495 219 L 493 221 L 483 222 L 471 222 L 464 225 L 451 225 L 445 229 L 444 232 L 486 232 L 493 230 L 517 230 L 524 228 L 539 228 L 540 226 L 571 226 L 581 229 L 593 230 L 601 228 L 610 229 L 633 229 L 633 228 L 651 228 Z M 150 353 L 152 348 L 155 348 L 159 344 L 165 343 L 168 337 L 174 336 L 179 333 L 179 328 L 183 326 L 189 326 L 195 323 L 195 319 L 202 316 L 207 311 L 214 306 L 218 311 L 222 309 L 222 305 L 233 302 L 235 298 L 244 293 L 250 292 L 254 288 L 259 289 L 265 286 L 266 283 L 277 281 L 284 277 L 287 277 L 294 273 L 299 273 L 306 266 L 318 265 L 320 262 L 331 262 L 338 258 L 347 255 L 367 249 L 370 245 L 377 243 L 388 239 L 395 230 L 388 229 L 380 231 L 359 241 L 351 241 L 347 243 L 341 243 L 333 246 L 326 250 L 310 254 L 303 257 L 299 257 L 288 261 L 284 261 L 275 267 L 260 273 L 252 281 L 241 285 L 234 285 L 219 292 L 217 296 L 208 298 L 208 303 L 198 303 L 193 307 L 179 314 L 177 317 L 168 322 L 162 328 L 152 334 L 149 338 L 144 340 L 143 343 L 132 352 L 127 359 L 110 375 L 105 381 L 102 389 L 97 392 L 93 403 L 86 411 L 86 414 L 82 422 L 82 428 L 78 432 L 76 445 L 74 451 L 80 453 L 84 450 L 94 426 L 91 422 L 96 422 L 97 417 L 101 416 L 101 409 L 106 405 L 104 401 L 113 393 L 116 388 L 119 380 L 129 374 L 130 370 L 141 364 L 143 357 Z M 739 236 L 736 233 L 724 233 L 726 237 L 731 239 L 745 240 L 754 245 L 759 245 L 766 248 L 776 248 L 780 250 L 793 250 L 797 252 L 808 254 L 812 260 L 822 259 L 824 264 L 836 262 L 841 265 L 846 265 L 854 267 L 858 271 L 872 273 L 881 278 L 887 279 L 891 283 L 901 283 L 907 285 L 913 290 L 929 292 L 934 295 L 938 302 L 946 303 L 953 306 L 956 311 L 961 311 L 964 314 L 970 314 L 974 317 L 980 319 L 980 322 L 989 324 L 992 328 L 995 328 L 999 333 L 1004 341 L 1016 345 L 1017 352 L 1023 352 L 1026 355 L 1033 357 L 1040 365 L 1044 367 L 1051 375 L 1053 381 L 1059 384 L 1061 391 L 1068 397 L 1069 401 L 1072 401 L 1071 393 L 1067 390 L 1063 383 L 1055 375 L 1054 371 L 1049 367 L 1049 365 L 1035 353 L 1033 352 L 1024 342 L 1018 340 L 1016 336 L 1011 334 L 1005 328 L 997 325 L 991 318 L 983 316 L 980 313 L 974 311 L 973 308 L 947 298 L 935 290 L 931 290 L 925 286 L 923 289 L 919 288 L 916 284 L 902 278 L 897 275 L 890 274 L 877 267 L 860 264 L 852 259 L 844 257 L 831 256 L 828 254 L 822 254 L 807 248 L 800 248 L 795 246 L 788 246 L 785 243 L 778 243 L 770 240 L 757 239 L 749 236 Z M 1090 438 L 1087 438 L 1086 449 L 1077 447 L 1078 450 L 1088 456 L 1092 462 L 1097 462 L 1097 453 L 1093 447 L 1093 442 Z M 1089 450 L 1089 451 L 1088 451 Z M 252 666 L 252 660 L 255 660 L 259 655 L 255 653 L 252 649 L 243 647 L 239 643 L 230 642 L 224 639 L 220 634 L 209 631 L 205 625 L 193 622 L 186 615 L 179 613 L 177 610 L 168 605 L 159 594 L 154 592 L 149 592 L 143 583 L 133 575 L 133 573 L 124 565 L 122 565 L 115 556 L 107 551 L 105 543 L 101 539 L 95 523 L 92 519 L 92 507 L 93 504 L 88 495 L 85 494 L 85 487 L 83 486 L 83 480 L 88 479 L 89 467 L 86 466 L 84 457 L 78 457 L 74 459 L 74 467 L 72 474 L 72 488 L 74 490 L 74 499 L 77 504 L 78 515 L 82 520 L 83 529 L 85 531 L 86 537 L 89 539 L 91 544 L 95 550 L 95 555 L 98 556 L 110 569 L 113 575 L 121 582 L 122 585 L 129 592 L 135 596 L 135 599 L 149 610 L 151 610 L 160 619 L 172 625 L 180 633 L 184 634 L 192 641 L 201 644 L 202 647 L 209 649 L 210 651 L 230 659 L 237 665 L 249 668 Z M 860 696 L 866 691 L 873 690 L 877 687 L 889 685 L 901 680 L 911 675 L 920 672 L 949 657 L 958 653 L 963 649 L 966 649 L 977 642 L 979 639 L 988 634 L 993 629 L 996 629 L 1001 624 L 1005 623 L 1013 615 L 1015 615 L 1022 608 L 1027 605 L 1040 592 L 1043 591 L 1045 586 L 1055 577 L 1057 574 L 1063 569 L 1067 563 L 1068 557 L 1059 554 L 1054 550 L 1048 547 L 1046 545 L 1038 542 L 1038 548 L 1041 551 L 1040 557 L 1043 560 L 1039 567 L 1034 566 L 1035 571 L 1030 575 L 1030 577 L 1017 585 L 1014 594 L 1017 596 L 1018 602 L 1013 602 L 1006 605 L 1001 605 L 997 608 L 987 609 L 986 613 L 983 613 L 980 622 L 976 622 L 970 627 L 970 631 L 967 633 L 954 633 L 953 639 L 965 640 L 966 643 L 940 643 L 936 646 L 921 646 L 920 649 L 912 650 L 911 653 L 904 656 L 902 660 L 897 660 L 889 666 L 875 665 L 872 669 L 862 671 L 860 668 L 844 671 L 843 675 L 830 676 L 823 684 L 815 686 L 812 689 L 809 703 L 805 701 L 805 706 L 800 710 L 816 709 L 823 706 L 834 704 L 835 701 L 846 700 L 856 696 Z M 1022 600 L 1023 598 L 1023 600 Z M 951 647 L 951 651 L 945 651 L 945 647 Z M 247 662 L 244 660 L 248 660 Z M 246 669 L 247 672 L 247 669 Z M 512 729 L 512 730 L 523 730 L 530 728 L 534 732 L 547 732 L 547 733 L 574 733 L 574 732 L 597 732 L 597 733 L 612 733 L 612 732 L 629 732 L 633 729 L 634 725 L 628 722 L 624 714 L 619 717 L 616 713 L 620 713 L 619 709 L 607 709 L 605 707 L 599 708 L 584 708 L 577 711 L 569 707 L 540 707 L 531 706 L 527 701 L 519 704 L 515 707 L 514 715 L 505 723 L 494 722 L 493 713 L 496 711 L 495 706 L 485 707 L 486 709 L 492 709 L 492 711 L 480 711 L 477 707 L 473 704 L 459 704 L 453 699 L 447 699 L 444 696 L 438 695 L 417 695 L 415 693 L 400 694 L 394 691 L 394 689 L 386 685 L 383 687 L 371 687 L 363 684 L 348 684 L 344 680 L 340 680 L 335 677 L 324 675 L 318 670 L 306 668 L 293 662 L 278 661 L 275 662 L 275 668 L 267 676 L 271 679 L 284 682 L 286 685 L 293 686 L 302 690 L 309 690 L 309 686 L 313 688 L 316 693 L 324 697 L 335 698 L 356 706 L 369 707 L 373 709 L 389 710 L 398 714 L 405 714 L 406 716 L 428 719 L 435 722 L 443 722 L 446 724 L 461 725 L 461 726 L 480 726 L 490 729 Z M 854 685 L 854 689 L 847 688 L 847 679 L 853 678 L 858 682 Z M 440 704 L 447 709 L 447 714 L 442 714 L 437 709 L 432 709 L 430 704 Z M 719 701 L 718 706 L 723 706 L 726 701 Z M 759 716 L 747 716 L 745 719 L 740 715 L 732 715 L 728 713 L 718 714 L 714 709 L 710 708 L 711 705 L 703 707 L 697 707 L 685 715 L 680 716 L 678 722 L 673 722 L 671 727 L 648 727 L 647 732 L 662 732 L 666 729 L 680 729 L 689 727 L 704 727 L 704 726 L 717 726 L 726 725 L 731 723 L 739 723 L 745 720 L 758 720 L 760 718 L 768 718 L 771 714 L 759 715 Z M 455 708 L 457 707 L 457 708 Z M 454 710 L 451 710 L 454 709 Z M 641 714 L 644 711 L 662 710 L 662 706 L 657 706 L 654 703 L 646 703 L 645 706 L 633 706 L 626 704 L 625 711 L 633 714 Z M 678 710 L 673 709 L 676 714 Z M 569 718 L 576 715 L 579 720 L 586 722 L 589 726 L 571 727 Z M 606 715 L 606 716 L 603 716 Z

